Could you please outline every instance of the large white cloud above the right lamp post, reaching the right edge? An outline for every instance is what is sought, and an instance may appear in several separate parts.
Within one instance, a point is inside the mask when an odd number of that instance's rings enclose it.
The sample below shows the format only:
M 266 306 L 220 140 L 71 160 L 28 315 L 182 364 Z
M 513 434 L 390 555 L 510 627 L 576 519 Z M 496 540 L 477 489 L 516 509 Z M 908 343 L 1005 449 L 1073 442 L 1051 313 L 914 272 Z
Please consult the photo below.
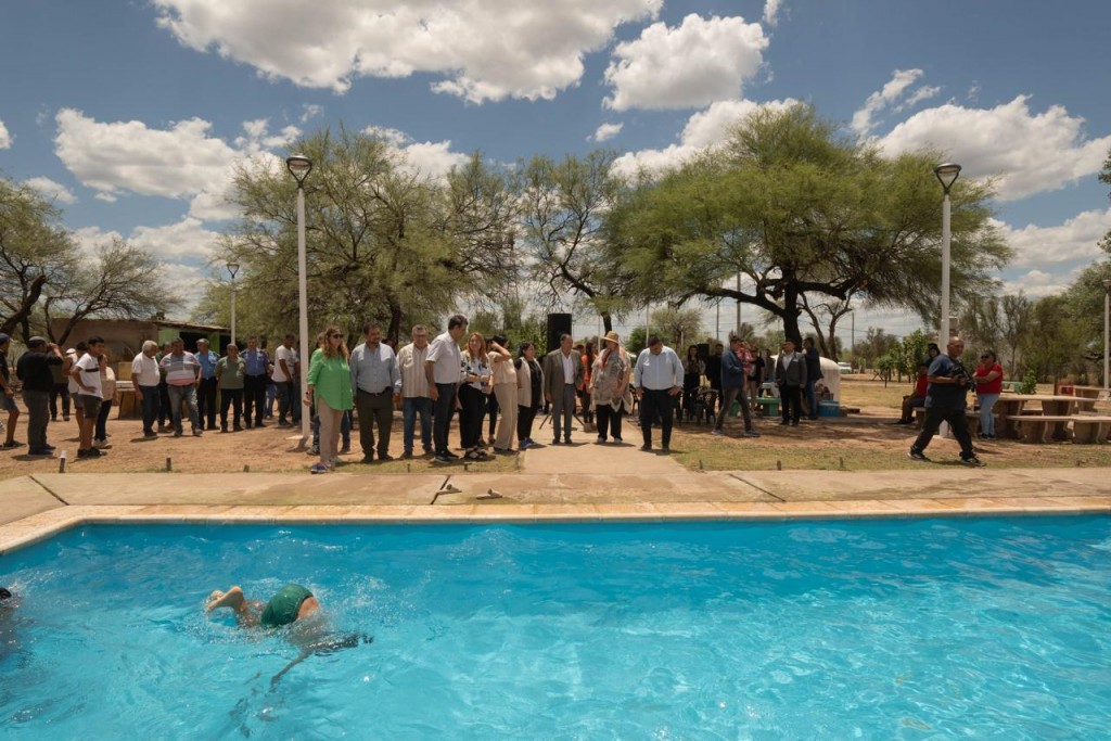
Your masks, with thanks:
M 937 148 L 964 167 L 962 176 L 998 176 L 999 197 L 1025 198 L 1094 174 L 1111 136 L 1085 139 L 1084 120 L 1062 106 L 1031 113 L 1019 96 L 991 109 L 945 103 L 920 111 L 878 140 L 888 154 Z

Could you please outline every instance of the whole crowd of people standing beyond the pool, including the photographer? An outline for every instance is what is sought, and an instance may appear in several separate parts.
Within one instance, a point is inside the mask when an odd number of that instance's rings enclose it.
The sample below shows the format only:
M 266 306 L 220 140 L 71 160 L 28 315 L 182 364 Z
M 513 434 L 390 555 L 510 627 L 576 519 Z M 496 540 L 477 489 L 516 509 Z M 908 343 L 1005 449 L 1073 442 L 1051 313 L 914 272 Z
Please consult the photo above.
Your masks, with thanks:
M 222 433 L 262 428 L 276 413 L 279 427 L 291 427 L 300 423 L 301 410 L 308 408 L 311 452 L 319 457 L 311 470 L 326 473 L 340 454 L 351 451 L 356 420 L 362 462 L 393 460 L 390 442 L 396 410 L 402 417 L 402 458 L 417 454 L 419 423 L 420 454 L 437 463 L 459 458 L 483 461 L 536 447 L 539 443 L 532 435 L 541 411 L 550 414 L 553 445 L 572 442 L 578 413 L 582 429 L 597 431 L 594 442 L 621 443 L 624 419 L 635 414 L 640 448 L 645 451 L 654 449 L 653 428 L 659 428 L 659 449 L 670 450 L 677 415 L 680 420 L 704 417 L 712 423 L 712 433 L 722 435 L 727 414 L 737 410 L 743 437 L 759 438 L 753 413 L 763 401 L 759 397 L 770 388 L 780 400 L 780 424 L 798 425 L 803 417 L 818 417 L 822 371 L 809 338 L 801 351 L 793 340 L 785 340 L 775 357 L 734 337 L 728 348 L 717 343 L 703 356 L 690 346 L 680 358 L 658 337 L 649 337 L 648 347 L 631 357 L 613 331 L 607 332 L 597 352 L 593 343 L 575 346 L 570 334 L 563 334 L 558 348 L 538 358 L 531 342 L 518 344 L 514 352 L 502 334 L 487 339 L 468 332 L 467 319 L 457 314 L 434 339 L 424 326 L 414 327 L 410 339 L 394 351 L 383 340 L 381 328 L 368 322 L 362 327 L 363 341 L 349 350 L 344 333 L 327 328 L 318 336 L 307 367 L 303 399 L 298 393 L 302 367 L 293 334 L 284 337 L 272 357 L 256 337 L 248 338 L 246 350 L 229 343 L 223 356 L 211 351 L 204 339 L 197 342 L 194 352 L 184 349 L 181 338 L 161 348 L 148 340 L 131 362 L 142 437 L 182 437 L 186 419 L 196 437 L 218 428 Z M 8 414 L 0 447 L 17 448 L 22 444 L 14 439 L 21 412 L 10 380 L 9 348 L 10 338 L 0 334 L 0 384 Z M 915 408 L 928 409 L 912 458 L 924 459 L 922 451 L 942 421 L 953 425 L 958 440 L 969 437 L 963 417 L 967 388 L 974 387 L 978 393 L 981 435 L 994 438 L 992 408 L 1003 370 L 989 350 L 977 371 L 968 373 L 958 360 L 962 351 L 959 340 L 949 344 L 947 353 L 931 343 L 929 357 L 919 364 L 914 390 L 903 398 L 895 422 L 908 424 Z M 29 455 L 54 453 L 47 439 L 48 425 L 58 420 L 59 412 L 63 421 L 69 420 L 71 409 L 78 421 L 78 458 L 106 454 L 109 412 L 119 392 L 101 338 L 91 337 L 64 352 L 43 338 L 30 338 L 16 377 L 22 382 L 27 408 Z M 959 419 L 957 409 L 961 410 Z M 449 443 L 457 413 L 461 453 Z M 962 458 L 978 463 L 971 443 L 962 447 Z

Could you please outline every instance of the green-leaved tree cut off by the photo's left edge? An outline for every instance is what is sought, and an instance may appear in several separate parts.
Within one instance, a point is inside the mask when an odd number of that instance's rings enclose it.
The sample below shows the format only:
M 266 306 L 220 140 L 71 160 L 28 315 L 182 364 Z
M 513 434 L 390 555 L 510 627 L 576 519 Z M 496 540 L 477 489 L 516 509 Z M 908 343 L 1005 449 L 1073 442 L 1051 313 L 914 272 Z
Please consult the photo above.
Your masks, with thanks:
M 61 210 L 26 186 L 0 179 L 0 332 L 31 336 L 36 306 L 48 286 L 77 269 L 77 248 Z

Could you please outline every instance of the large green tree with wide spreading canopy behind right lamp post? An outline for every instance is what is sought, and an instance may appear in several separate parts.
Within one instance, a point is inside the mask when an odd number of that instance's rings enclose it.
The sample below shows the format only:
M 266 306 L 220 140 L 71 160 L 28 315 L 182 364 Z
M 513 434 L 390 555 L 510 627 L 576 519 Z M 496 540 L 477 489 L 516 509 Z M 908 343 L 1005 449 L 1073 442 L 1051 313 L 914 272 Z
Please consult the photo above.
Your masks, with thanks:
M 612 216 L 639 297 L 729 298 L 778 317 L 798 338 L 803 297 L 937 313 L 941 193 L 933 151 L 885 159 L 808 106 L 760 110 L 721 152 L 641 183 Z M 990 221 L 990 182 L 951 193 L 958 297 L 994 284 L 1011 250 Z M 738 290 L 738 272 L 752 288 Z

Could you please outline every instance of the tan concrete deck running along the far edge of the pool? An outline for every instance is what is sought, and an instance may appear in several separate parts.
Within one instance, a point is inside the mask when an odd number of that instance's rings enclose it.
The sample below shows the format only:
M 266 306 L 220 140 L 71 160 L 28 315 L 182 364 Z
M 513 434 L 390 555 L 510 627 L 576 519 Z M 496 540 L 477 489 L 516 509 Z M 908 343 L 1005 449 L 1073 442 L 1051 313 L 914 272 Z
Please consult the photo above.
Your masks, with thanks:
M 0 481 L 0 553 L 87 523 L 653 522 L 1111 514 L 1107 469 L 697 472 L 664 457 L 633 457 L 627 459 L 632 463 L 627 463 L 623 455 L 607 454 L 590 465 L 581 455 L 574 465 L 557 458 L 561 455 L 507 473 L 463 472 L 459 468 L 408 474 L 348 474 L 340 469 L 321 477 L 37 473 Z M 565 472 L 569 470 L 575 472 Z M 444 484 L 456 491 L 441 492 Z M 501 497 L 491 498 L 490 490 Z

